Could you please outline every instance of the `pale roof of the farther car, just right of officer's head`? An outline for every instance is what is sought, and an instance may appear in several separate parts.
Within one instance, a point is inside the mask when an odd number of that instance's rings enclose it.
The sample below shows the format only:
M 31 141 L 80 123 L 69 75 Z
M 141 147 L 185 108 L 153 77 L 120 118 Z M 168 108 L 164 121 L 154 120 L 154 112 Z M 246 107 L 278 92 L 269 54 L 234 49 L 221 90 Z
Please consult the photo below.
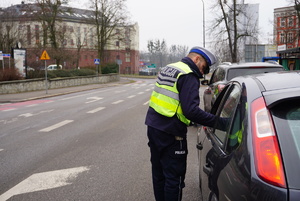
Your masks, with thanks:
M 246 63 L 230 63 L 224 62 L 221 63 L 218 67 L 222 67 L 225 69 L 229 68 L 249 68 L 249 67 L 281 67 L 282 65 L 274 63 L 274 62 L 246 62 Z

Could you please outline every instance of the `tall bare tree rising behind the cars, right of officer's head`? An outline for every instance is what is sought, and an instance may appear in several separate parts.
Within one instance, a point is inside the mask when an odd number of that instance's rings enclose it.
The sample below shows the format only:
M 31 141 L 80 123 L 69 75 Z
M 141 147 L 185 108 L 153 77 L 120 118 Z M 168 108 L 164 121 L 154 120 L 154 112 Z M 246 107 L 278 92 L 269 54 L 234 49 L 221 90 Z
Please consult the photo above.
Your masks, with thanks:
M 238 62 L 239 43 L 241 39 L 257 34 L 257 22 L 251 22 L 253 16 L 249 16 L 245 4 L 239 4 L 237 0 L 216 0 L 213 8 L 217 10 L 214 11 L 216 17 L 212 21 L 210 33 L 215 40 L 215 49 L 222 58 Z

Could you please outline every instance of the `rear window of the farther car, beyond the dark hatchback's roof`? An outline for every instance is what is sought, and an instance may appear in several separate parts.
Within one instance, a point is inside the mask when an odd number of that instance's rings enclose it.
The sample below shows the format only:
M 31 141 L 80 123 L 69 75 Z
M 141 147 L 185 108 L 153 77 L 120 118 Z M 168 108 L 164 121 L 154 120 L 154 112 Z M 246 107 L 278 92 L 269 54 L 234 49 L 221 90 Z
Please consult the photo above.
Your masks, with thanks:
M 243 75 L 252 75 L 252 74 L 259 74 L 259 73 L 271 73 L 282 71 L 281 67 L 249 67 L 249 68 L 232 68 L 228 70 L 227 73 L 227 80 L 231 80 L 238 76 Z

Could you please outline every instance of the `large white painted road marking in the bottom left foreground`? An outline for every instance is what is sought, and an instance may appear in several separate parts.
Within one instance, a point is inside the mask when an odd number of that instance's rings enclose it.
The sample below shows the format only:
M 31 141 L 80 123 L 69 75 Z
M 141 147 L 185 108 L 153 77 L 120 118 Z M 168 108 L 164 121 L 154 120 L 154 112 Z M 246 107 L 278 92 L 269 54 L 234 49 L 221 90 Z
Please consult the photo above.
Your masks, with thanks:
M 14 195 L 71 185 L 73 182 L 72 180 L 75 180 L 80 173 L 88 171 L 89 169 L 89 167 L 82 166 L 33 174 L 0 195 L 0 200 L 8 200 Z

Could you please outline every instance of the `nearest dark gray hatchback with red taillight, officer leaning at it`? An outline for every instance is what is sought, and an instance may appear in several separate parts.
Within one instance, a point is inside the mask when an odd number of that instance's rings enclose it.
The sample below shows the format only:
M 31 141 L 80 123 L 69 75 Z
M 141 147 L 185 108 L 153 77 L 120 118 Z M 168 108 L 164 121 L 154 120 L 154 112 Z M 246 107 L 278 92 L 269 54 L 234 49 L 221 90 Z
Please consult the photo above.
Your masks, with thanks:
M 300 72 L 234 78 L 211 113 L 227 124 L 198 131 L 203 200 L 299 201 Z

